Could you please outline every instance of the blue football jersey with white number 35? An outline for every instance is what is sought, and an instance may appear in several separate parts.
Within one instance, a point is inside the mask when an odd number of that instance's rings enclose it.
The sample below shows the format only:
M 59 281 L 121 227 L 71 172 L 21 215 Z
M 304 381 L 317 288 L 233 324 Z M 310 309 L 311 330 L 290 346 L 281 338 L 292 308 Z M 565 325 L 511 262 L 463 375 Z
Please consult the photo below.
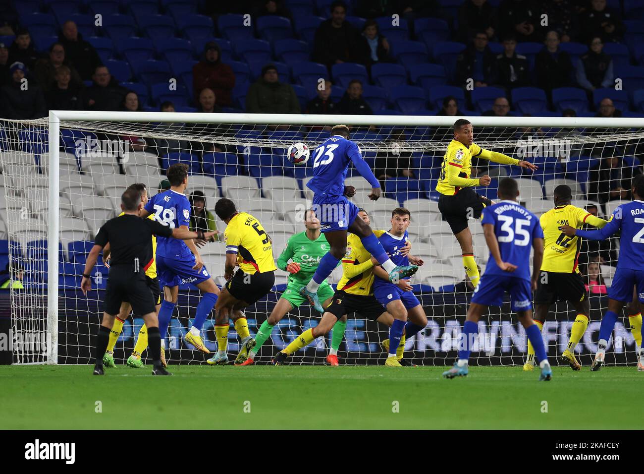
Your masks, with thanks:
M 486 275 L 511 275 L 529 280 L 531 275 L 530 252 L 533 239 L 544 238 L 539 219 L 516 201 L 499 201 L 483 210 L 481 224 L 492 224 L 497 236 L 501 260 L 516 265 L 514 272 L 498 268 L 490 252 Z

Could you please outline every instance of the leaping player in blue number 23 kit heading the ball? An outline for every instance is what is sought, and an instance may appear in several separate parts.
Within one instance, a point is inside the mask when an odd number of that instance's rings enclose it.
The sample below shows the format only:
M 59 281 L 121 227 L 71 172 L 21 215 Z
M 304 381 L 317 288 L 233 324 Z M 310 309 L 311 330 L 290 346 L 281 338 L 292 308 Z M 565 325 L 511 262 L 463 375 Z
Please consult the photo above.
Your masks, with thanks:
M 360 175 L 371 184 L 369 199 L 375 201 L 381 195 L 378 180 L 363 159 L 357 144 L 349 140 L 349 135 L 346 125 L 336 125 L 331 129 L 331 136 L 314 152 L 313 177 L 307 183 L 308 188 L 314 192 L 313 210 L 321 221 L 320 231 L 327 237 L 330 251 L 322 257 L 312 279 L 302 288 L 301 293 L 321 313 L 324 310 L 317 297 L 317 290 L 345 255 L 349 231 L 360 237 L 366 250 L 386 270 L 390 281 L 398 282 L 418 270 L 416 265 L 397 266 L 384 252 L 370 226 L 358 217 L 357 206 L 346 199 L 345 179 L 349 163 L 353 163 Z

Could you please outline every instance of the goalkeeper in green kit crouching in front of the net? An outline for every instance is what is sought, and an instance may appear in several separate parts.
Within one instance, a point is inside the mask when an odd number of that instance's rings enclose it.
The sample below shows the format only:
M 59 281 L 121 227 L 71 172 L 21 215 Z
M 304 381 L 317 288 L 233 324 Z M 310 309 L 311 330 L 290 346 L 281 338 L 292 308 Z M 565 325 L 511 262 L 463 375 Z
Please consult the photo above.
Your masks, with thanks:
M 240 366 L 249 366 L 260 350 L 261 345 L 270 337 L 270 333 L 279 321 L 293 308 L 298 308 L 303 303 L 308 303 L 307 298 L 300 295 L 299 291 L 307 285 L 313 273 L 316 272 L 317 264 L 329 250 L 327 238 L 320 232 L 320 221 L 312 210 L 307 211 L 305 218 L 307 230 L 296 233 L 290 237 L 286 248 L 276 261 L 279 270 L 289 272 L 289 282 L 286 290 L 282 293 L 269 318 L 260 326 L 255 336 L 256 346 L 249 352 L 248 358 Z M 290 260 L 290 263 L 289 263 Z M 322 282 L 317 290 L 317 297 L 326 308 L 334 295 L 334 290 L 326 282 Z M 339 319 L 333 326 L 331 351 L 327 356 L 327 362 L 337 366 L 337 348 L 345 335 L 346 315 Z

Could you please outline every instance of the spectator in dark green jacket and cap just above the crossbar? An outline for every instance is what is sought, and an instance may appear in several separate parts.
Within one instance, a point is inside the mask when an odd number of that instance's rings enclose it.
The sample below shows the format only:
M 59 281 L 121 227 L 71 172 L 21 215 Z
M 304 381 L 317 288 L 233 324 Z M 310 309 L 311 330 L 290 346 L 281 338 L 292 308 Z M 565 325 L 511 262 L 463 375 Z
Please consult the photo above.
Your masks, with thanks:
M 299 101 L 290 84 L 280 83 L 273 64 L 261 68 L 261 77 L 248 89 L 246 112 L 249 114 L 299 114 Z

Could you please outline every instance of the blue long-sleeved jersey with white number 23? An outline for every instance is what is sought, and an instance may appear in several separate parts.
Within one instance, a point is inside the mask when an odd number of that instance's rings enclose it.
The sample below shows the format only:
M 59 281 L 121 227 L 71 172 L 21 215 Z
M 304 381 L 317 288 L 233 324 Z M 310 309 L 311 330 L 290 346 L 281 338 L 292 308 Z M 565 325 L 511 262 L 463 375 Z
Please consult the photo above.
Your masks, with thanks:
M 334 135 L 323 141 L 313 152 L 313 177 L 307 183 L 308 188 L 316 195 L 344 195 L 346 172 L 350 162 L 354 163 L 360 175 L 373 188 L 380 187 L 357 144 L 341 135 Z

